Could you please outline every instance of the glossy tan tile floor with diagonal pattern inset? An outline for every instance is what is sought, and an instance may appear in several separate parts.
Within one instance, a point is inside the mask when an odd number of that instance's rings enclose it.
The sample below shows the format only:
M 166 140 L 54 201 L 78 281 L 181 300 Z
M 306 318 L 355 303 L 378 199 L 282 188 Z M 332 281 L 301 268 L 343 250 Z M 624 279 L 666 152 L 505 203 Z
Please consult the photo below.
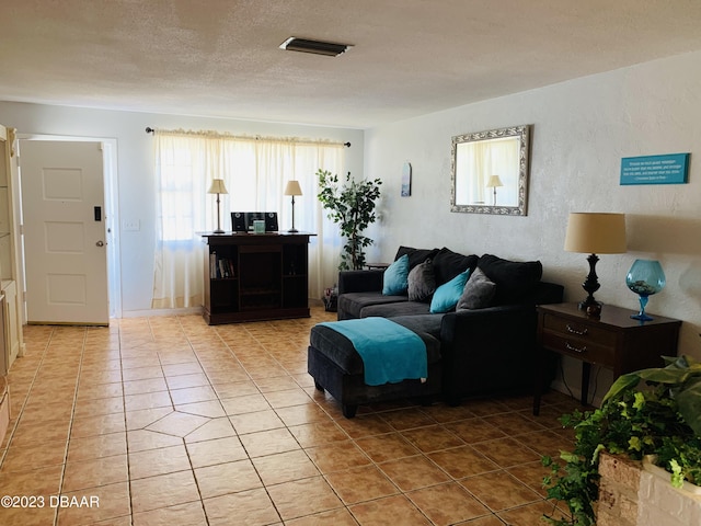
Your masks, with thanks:
M 27 327 L 9 375 L 2 525 L 538 525 L 541 454 L 571 447 L 544 397 L 361 407 L 306 371 L 333 319 L 208 327 L 199 316 Z M 60 495 L 60 496 L 59 496 Z

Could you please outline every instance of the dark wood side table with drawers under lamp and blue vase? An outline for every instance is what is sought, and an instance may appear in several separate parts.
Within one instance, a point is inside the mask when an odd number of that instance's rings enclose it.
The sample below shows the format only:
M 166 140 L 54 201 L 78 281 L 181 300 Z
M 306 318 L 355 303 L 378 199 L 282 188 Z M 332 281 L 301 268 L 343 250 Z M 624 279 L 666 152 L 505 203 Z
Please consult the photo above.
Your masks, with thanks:
M 553 352 L 582 362 L 582 404 L 586 405 L 591 364 L 624 373 L 660 367 L 662 356 L 676 356 L 680 320 L 654 316 L 654 320 L 633 320 L 635 311 L 605 305 L 599 318 L 590 318 L 577 304 L 537 307 L 538 361 L 533 414 L 540 411 L 547 353 Z

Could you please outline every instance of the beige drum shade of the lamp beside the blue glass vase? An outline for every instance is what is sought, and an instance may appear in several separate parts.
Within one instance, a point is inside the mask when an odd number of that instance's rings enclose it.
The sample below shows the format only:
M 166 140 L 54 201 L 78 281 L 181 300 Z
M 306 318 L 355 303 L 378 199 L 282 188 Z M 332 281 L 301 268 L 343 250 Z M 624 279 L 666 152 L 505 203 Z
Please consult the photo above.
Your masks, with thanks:
M 586 254 L 624 253 L 625 214 L 571 213 L 565 250 Z

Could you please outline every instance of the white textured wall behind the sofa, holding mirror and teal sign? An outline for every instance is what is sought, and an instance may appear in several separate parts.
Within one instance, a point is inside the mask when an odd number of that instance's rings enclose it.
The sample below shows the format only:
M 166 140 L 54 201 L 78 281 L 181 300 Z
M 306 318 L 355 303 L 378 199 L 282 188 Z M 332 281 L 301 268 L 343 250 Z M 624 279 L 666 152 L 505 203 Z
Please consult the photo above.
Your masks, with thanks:
M 699 123 L 701 53 L 693 53 L 368 130 L 365 174 L 384 180 L 371 258 L 391 261 L 406 244 L 537 259 L 544 279 L 563 284 L 566 300 L 581 300 L 588 265 L 586 254 L 563 250 L 567 214 L 625 213 L 629 252 L 601 255 L 597 299 L 635 310 L 625 274 L 637 258 L 659 260 L 667 286 L 647 310 L 683 320 L 679 353 L 701 359 Z M 521 124 L 533 125 L 528 215 L 450 213 L 451 137 Z M 622 157 L 677 152 L 691 152 L 688 184 L 619 185 Z M 411 197 L 400 197 L 405 161 Z M 566 370 L 578 389 L 578 366 Z

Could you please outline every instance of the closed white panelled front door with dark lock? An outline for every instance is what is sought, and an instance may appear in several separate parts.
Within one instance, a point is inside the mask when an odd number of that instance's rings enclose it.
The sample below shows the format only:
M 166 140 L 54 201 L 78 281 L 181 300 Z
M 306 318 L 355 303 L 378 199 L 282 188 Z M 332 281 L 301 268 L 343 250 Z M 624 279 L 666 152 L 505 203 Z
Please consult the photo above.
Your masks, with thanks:
M 101 142 L 22 140 L 28 323 L 110 322 Z

